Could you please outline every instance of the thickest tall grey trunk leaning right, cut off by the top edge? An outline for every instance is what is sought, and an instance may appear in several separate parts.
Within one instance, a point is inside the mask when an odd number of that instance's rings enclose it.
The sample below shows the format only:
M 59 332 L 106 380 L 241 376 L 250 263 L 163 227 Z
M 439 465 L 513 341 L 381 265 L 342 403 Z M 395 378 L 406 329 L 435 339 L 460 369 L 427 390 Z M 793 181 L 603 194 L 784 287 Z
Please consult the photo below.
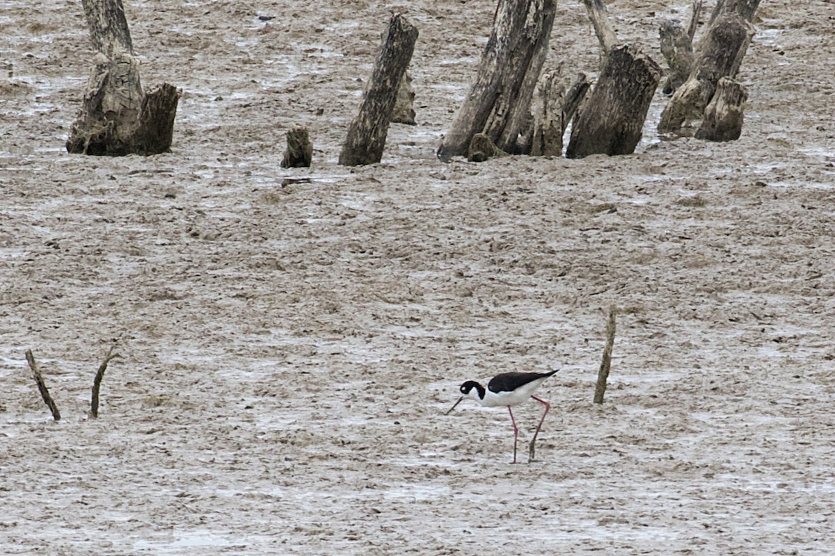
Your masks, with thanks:
M 438 158 L 448 161 L 466 154 L 476 133 L 486 133 L 506 152 L 514 148 L 529 118 L 555 13 L 554 0 L 498 3 L 475 81 L 438 148 Z

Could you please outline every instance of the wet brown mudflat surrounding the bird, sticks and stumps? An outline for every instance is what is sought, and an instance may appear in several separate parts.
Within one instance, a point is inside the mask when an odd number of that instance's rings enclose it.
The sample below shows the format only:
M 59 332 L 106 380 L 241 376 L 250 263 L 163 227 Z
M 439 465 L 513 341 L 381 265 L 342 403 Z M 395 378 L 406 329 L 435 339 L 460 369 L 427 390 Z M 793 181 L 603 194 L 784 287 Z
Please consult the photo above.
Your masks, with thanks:
M 184 91 L 150 158 L 63 148 L 80 3 L 0 10 L 0 553 L 832 553 L 835 4 L 762 3 L 736 142 L 660 140 L 659 91 L 634 155 L 480 164 L 434 150 L 492 2 L 126 4 L 144 85 Z M 688 4 L 609 6 L 663 65 Z M 417 126 L 341 167 L 396 11 Z M 546 68 L 598 56 L 559 2 Z M 313 168 L 279 167 L 296 124 Z M 502 408 L 443 415 L 551 368 L 534 463 Z

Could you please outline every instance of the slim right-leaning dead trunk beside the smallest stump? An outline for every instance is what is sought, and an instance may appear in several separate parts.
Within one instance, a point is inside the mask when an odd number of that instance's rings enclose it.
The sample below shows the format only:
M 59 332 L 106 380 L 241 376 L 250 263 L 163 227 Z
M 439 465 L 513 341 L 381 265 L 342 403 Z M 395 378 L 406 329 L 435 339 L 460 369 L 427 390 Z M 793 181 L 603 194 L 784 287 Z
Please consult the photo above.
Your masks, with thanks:
M 392 16 L 372 77 L 362 95 L 359 113 L 348 128 L 348 136 L 342 145 L 339 163 L 343 166 L 373 164 L 382 159 L 397 88 L 412 59 L 415 41 L 417 28 L 399 13 Z

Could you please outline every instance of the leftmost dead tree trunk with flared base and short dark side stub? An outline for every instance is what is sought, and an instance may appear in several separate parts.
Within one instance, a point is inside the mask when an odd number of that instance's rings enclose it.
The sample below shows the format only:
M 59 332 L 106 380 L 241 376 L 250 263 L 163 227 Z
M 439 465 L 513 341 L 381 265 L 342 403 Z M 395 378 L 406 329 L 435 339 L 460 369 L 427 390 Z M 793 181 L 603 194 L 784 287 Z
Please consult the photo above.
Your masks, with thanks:
M 182 92 L 168 83 L 143 92 L 121 0 L 83 0 L 83 8 L 99 53 L 67 151 L 109 156 L 168 152 Z

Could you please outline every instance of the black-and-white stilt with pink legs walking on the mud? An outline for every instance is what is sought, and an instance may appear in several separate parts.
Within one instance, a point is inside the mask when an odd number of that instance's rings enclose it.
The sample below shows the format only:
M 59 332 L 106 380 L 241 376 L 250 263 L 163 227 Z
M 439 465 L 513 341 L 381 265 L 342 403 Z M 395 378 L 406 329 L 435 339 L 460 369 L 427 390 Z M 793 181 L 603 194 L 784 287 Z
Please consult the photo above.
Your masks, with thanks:
M 550 373 L 501 373 L 490 379 L 490 382 L 487 383 L 487 388 L 484 388 L 474 380 L 468 380 L 461 385 L 461 398 L 458 398 L 455 405 L 449 408 L 449 411 L 445 414 L 452 413 L 453 409 L 458 407 L 458 403 L 461 403 L 463 398 L 474 399 L 488 408 L 506 405 L 510 412 L 510 422 L 514 423 L 514 463 L 516 463 L 516 441 L 519 439 L 519 428 L 516 427 L 516 419 L 514 418 L 514 411 L 511 407 L 527 401 L 528 398 L 534 398 L 539 403 L 544 404 L 545 413 L 539 419 L 536 432 L 534 432 L 534 438 L 530 441 L 528 452 L 528 463 L 530 463 L 534 461 L 536 435 L 539 434 L 539 428 L 542 427 L 545 415 L 548 414 L 551 408 L 550 403 L 534 396 L 534 392 L 545 382 L 545 378 L 549 378 L 549 376 L 557 371 L 551 371 Z

